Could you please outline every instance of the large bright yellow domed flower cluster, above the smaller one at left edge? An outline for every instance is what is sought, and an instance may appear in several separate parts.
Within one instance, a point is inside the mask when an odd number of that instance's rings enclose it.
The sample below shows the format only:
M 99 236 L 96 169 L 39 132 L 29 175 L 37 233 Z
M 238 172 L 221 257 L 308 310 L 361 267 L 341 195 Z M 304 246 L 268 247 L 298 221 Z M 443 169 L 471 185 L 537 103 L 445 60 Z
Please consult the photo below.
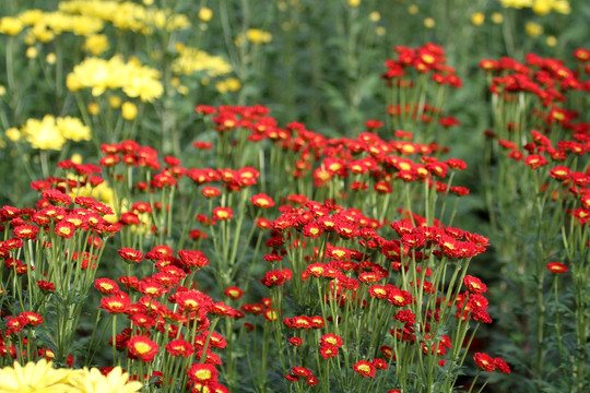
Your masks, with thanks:
M 72 92 L 92 88 L 93 96 L 106 90 L 121 88 L 128 97 L 152 103 L 164 92 L 160 72 L 138 60 L 125 62 L 120 57 L 110 60 L 86 58 L 68 74 L 66 85 Z

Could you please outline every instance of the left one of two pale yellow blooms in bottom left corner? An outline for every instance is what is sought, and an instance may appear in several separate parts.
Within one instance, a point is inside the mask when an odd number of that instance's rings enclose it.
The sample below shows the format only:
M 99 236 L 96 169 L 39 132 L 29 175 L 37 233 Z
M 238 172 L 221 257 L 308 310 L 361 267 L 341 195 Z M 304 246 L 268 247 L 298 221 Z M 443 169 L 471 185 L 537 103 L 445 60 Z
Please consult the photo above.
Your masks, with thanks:
M 13 367 L 4 367 L 0 370 L 2 393 L 43 392 L 43 393 L 70 393 L 79 392 L 67 383 L 68 371 L 54 369 L 54 364 L 46 359 L 38 362 L 30 361 L 24 367 L 14 362 Z

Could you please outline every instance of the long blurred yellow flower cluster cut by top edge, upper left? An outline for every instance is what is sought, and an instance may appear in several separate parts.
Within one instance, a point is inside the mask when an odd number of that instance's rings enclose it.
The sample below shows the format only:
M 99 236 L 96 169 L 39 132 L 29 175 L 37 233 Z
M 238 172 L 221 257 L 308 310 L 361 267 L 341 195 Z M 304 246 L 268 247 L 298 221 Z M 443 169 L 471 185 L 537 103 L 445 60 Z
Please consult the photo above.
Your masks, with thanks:
M 59 3 L 60 11 L 97 17 L 120 29 L 152 34 L 154 29 L 168 32 L 190 27 L 184 14 L 155 7 L 145 8 L 132 1 L 72 0 Z

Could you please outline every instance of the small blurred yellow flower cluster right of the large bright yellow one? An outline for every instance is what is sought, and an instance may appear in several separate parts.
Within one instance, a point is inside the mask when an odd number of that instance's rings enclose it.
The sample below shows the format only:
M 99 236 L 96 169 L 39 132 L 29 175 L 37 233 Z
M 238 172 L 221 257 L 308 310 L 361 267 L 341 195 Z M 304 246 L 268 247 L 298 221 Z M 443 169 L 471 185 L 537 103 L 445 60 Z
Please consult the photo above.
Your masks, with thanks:
M 173 62 L 173 72 L 181 75 L 190 75 L 194 72 L 206 72 L 211 78 L 221 76 L 232 72 L 229 66 L 222 57 L 212 56 L 204 50 L 176 45 L 178 58 Z

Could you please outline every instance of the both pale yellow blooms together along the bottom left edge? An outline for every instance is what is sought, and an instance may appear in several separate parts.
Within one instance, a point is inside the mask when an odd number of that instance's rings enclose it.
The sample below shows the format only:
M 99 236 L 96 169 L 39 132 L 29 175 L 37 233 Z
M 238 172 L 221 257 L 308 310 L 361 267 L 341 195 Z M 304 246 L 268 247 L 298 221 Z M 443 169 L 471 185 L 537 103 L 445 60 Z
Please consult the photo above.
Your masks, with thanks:
M 135 393 L 142 388 L 137 381 L 129 381 L 129 374 L 116 367 L 108 376 L 96 368 L 82 370 L 55 369 L 51 361 L 30 361 L 24 367 L 14 362 L 13 367 L 0 370 L 0 393 L 60 392 L 60 393 Z

